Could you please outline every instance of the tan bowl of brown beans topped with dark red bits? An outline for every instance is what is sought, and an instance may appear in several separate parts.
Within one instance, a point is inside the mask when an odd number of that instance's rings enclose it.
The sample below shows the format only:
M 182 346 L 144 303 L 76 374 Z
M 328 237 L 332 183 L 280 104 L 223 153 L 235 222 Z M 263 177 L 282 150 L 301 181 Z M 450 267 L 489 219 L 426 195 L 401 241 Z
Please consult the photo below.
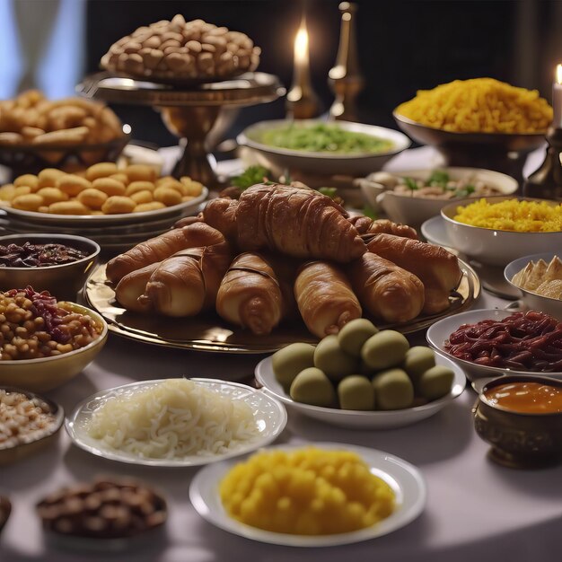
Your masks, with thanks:
M 51 391 L 100 353 L 108 326 L 97 312 L 31 286 L 0 293 L 0 385 Z

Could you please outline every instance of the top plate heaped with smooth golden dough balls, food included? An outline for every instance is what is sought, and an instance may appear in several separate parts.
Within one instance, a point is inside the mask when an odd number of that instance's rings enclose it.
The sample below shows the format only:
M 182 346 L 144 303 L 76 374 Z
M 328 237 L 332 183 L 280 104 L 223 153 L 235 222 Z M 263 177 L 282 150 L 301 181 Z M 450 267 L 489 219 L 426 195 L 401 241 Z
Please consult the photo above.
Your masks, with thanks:
M 207 194 L 198 181 L 158 177 L 147 164 L 100 162 L 75 173 L 46 168 L 23 174 L 0 187 L 0 205 L 33 223 L 124 224 L 184 215 Z

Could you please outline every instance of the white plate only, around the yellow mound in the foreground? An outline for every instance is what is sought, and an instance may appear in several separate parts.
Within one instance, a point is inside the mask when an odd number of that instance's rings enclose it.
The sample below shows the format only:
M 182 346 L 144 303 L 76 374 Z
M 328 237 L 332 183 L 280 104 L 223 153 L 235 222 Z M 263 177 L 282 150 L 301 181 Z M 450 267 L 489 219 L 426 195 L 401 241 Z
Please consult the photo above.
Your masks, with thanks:
M 386 452 L 344 443 L 307 443 L 321 449 L 356 452 L 369 465 L 371 472 L 383 479 L 394 492 L 394 512 L 371 527 L 359 531 L 332 535 L 293 535 L 264 531 L 239 522 L 224 510 L 219 496 L 219 482 L 237 461 L 215 463 L 199 470 L 189 487 L 189 499 L 201 517 L 216 527 L 259 542 L 291 547 L 335 547 L 363 540 L 371 540 L 404 527 L 414 521 L 426 505 L 426 483 L 421 472 L 412 464 Z M 269 447 L 283 451 L 302 449 L 299 445 Z

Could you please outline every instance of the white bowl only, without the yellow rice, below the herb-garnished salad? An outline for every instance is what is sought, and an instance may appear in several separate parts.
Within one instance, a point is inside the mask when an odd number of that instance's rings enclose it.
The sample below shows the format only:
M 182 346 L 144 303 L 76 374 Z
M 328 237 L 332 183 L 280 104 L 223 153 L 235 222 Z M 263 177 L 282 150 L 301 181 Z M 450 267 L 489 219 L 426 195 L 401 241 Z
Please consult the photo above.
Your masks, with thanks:
M 487 198 L 499 203 L 509 197 Z M 517 198 L 519 201 L 543 201 L 544 199 Z M 462 224 L 454 220 L 458 206 L 467 206 L 473 199 L 462 199 L 441 209 L 445 231 L 452 247 L 477 261 L 493 266 L 505 266 L 514 259 L 539 253 L 559 251 L 562 247 L 562 232 L 558 233 L 515 233 Z M 555 201 L 546 201 L 558 206 Z

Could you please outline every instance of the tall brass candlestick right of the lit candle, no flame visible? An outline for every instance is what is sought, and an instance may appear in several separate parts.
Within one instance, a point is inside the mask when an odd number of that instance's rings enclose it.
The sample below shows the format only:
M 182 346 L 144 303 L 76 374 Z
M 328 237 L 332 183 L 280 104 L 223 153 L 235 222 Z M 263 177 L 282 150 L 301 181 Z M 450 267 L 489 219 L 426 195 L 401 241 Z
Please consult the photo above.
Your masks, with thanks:
M 336 65 L 329 71 L 329 87 L 336 95 L 329 108 L 331 119 L 356 121 L 356 97 L 364 87 L 364 77 L 359 68 L 356 42 L 356 4 L 342 2 L 341 29 L 339 33 Z

